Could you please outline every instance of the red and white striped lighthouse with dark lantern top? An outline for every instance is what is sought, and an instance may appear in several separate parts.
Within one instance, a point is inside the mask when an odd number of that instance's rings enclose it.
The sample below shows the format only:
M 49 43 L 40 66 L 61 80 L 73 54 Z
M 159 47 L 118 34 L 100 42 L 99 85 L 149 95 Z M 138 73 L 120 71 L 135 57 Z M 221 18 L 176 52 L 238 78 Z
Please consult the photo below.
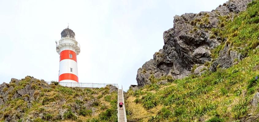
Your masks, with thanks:
M 59 53 L 59 82 L 78 83 L 77 58 L 80 45 L 75 40 L 75 33 L 68 27 L 61 32 L 61 39 L 56 41 Z

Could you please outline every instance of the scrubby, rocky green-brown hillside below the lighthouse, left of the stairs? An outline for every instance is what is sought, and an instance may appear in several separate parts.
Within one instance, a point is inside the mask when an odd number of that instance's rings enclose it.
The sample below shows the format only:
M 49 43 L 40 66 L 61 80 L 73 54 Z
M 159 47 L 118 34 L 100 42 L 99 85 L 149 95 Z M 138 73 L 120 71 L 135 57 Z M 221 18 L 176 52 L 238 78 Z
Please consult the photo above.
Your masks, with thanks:
M 68 88 L 25 77 L 2 84 L 2 121 L 117 121 L 117 88 Z M 22 95 L 23 94 L 23 95 Z

